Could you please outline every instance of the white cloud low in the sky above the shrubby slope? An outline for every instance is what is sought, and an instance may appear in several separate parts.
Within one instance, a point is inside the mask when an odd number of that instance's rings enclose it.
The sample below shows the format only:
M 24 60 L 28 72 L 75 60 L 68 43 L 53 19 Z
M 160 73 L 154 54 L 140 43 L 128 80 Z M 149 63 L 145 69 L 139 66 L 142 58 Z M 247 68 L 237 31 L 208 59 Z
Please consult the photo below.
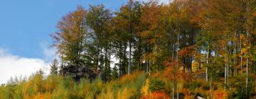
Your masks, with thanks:
M 0 47 L 0 83 L 14 76 L 30 76 L 39 69 L 48 74 L 49 63 L 43 59 L 20 57 Z

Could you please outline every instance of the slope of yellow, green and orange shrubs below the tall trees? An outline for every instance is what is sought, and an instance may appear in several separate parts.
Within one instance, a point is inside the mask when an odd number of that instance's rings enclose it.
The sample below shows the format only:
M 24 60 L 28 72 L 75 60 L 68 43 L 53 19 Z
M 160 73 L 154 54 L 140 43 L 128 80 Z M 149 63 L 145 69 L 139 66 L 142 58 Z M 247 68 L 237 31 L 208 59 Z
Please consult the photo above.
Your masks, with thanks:
M 173 85 L 171 80 L 159 71 L 147 76 L 143 71 L 135 71 L 117 80 L 102 82 L 100 78 L 93 81 L 82 79 L 80 82 L 72 78 L 50 75 L 43 78 L 34 74 L 28 80 L 11 81 L 0 87 L 0 98 L 171 98 Z M 197 95 L 209 98 L 228 98 L 235 91 L 225 91 L 219 82 L 206 83 L 203 79 L 181 80 L 178 85 L 180 98 L 196 98 Z M 175 93 L 176 95 L 176 93 Z M 175 96 L 176 97 L 176 96 Z

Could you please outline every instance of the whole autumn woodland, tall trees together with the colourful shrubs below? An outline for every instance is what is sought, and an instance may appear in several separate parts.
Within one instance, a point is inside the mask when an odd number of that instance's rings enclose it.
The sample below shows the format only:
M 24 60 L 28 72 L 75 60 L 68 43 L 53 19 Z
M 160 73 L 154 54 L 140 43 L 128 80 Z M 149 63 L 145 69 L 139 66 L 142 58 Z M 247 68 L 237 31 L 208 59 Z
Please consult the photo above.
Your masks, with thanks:
M 0 98 L 256 98 L 255 0 L 78 6 L 56 28 L 50 74 L 10 79 Z

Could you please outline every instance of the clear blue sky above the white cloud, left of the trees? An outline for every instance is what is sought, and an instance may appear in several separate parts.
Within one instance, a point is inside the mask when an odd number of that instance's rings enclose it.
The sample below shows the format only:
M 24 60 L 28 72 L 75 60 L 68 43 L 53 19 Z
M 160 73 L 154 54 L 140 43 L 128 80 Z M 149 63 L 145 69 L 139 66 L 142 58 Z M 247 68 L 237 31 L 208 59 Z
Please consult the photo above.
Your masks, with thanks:
M 45 57 L 42 46 L 50 45 L 62 16 L 78 5 L 105 4 L 118 10 L 127 0 L 0 0 L 0 47 L 28 58 Z

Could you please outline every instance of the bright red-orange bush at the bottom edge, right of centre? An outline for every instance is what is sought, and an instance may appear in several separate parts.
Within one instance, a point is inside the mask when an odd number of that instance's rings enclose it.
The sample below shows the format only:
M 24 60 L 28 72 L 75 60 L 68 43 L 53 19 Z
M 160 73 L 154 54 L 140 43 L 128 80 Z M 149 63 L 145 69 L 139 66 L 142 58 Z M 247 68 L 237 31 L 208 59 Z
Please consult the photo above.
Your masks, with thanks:
M 161 91 L 155 91 L 141 99 L 171 99 L 169 95 Z

